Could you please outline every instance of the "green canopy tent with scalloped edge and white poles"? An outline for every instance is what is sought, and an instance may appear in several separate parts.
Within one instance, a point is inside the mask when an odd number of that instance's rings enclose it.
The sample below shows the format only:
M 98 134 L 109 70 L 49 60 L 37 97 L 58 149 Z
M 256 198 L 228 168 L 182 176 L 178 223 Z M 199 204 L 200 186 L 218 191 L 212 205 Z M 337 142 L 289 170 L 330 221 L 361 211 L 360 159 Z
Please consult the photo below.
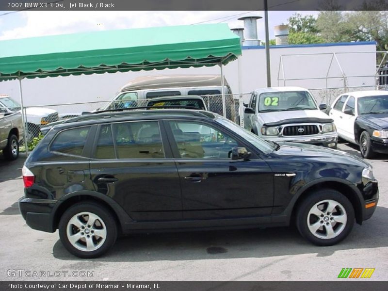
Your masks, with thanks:
M 240 38 L 227 24 L 12 39 L 0 41 L 0 81 L 19 80 L 23 112 L 23 78 L 220 65 L 225 114 L 222 67 L 238 55 L 241 55 Z

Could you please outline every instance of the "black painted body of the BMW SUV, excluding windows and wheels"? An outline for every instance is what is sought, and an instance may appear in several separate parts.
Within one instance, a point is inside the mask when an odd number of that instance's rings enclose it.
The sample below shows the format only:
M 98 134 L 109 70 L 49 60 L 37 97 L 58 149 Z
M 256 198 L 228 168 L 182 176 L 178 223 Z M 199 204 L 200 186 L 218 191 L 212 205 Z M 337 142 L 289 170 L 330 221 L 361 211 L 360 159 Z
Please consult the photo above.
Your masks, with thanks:
M 213 113 L 158 110 L 98 116 L 55 126 L 26 160 L 25 166 L 35 178 L 19 207 L 32 228 L 54 232 L 65 208 L 82 200 L 106 205 L 124 233 L 287 226 L 301 197 L 324 185 L 344 190 L 359 224 L 375 209 L 366 210 L 365 204 L 378 201 L 377 181 L 361 176 L 370 165 L 337 150 L 282 143 L 278 149 L 274 146 L 264 152 L 218 123 L 216 119 L 221 117 Z M 139 120 L 158 122 L 164 158 L 95 158 L 103 125 Z M 251 156 L 236 161 L 180 158 L 170 121 L 211 126 L 234 140 L 221 146 L 246 147 Z M 60 132 L 81 127 L 89 131 L 79 155 L 51 150 Z

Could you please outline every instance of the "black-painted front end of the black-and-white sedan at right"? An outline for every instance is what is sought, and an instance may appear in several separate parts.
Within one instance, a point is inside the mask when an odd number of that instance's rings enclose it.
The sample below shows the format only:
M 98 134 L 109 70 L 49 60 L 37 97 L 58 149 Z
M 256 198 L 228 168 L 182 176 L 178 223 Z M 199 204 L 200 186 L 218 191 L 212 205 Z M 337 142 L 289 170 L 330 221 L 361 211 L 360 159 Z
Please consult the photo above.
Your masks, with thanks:
M 362 114 L 356 118 L 355 138 L 359 143 L 361 132 L 366 130 L 371 136 L 372 150 L 377 153 L 388 154 L 388 139 L 373 136 L 373 130 L 388 129 L 388 113 Z

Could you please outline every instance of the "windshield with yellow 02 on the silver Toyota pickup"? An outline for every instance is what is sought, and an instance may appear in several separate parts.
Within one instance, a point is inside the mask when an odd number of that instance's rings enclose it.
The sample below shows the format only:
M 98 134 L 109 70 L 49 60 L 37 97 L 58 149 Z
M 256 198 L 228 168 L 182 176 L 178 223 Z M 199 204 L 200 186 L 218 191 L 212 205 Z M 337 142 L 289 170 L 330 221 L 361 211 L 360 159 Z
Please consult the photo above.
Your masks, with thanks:
M 307 91 L 267 92 L 259 96 L 259 112 L 317 109 Z

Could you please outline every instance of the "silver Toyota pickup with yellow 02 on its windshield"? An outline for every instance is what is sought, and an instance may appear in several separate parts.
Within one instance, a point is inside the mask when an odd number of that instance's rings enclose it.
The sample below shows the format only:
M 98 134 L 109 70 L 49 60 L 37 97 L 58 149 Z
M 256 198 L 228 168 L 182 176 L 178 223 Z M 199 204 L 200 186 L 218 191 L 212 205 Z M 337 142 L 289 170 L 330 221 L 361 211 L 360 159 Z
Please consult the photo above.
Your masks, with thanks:
M 298 142 L 336 148 L 333 120 L 307 89 L 272 87 L 252 92 L 244 109 L 244 128 L 274 142 Z

